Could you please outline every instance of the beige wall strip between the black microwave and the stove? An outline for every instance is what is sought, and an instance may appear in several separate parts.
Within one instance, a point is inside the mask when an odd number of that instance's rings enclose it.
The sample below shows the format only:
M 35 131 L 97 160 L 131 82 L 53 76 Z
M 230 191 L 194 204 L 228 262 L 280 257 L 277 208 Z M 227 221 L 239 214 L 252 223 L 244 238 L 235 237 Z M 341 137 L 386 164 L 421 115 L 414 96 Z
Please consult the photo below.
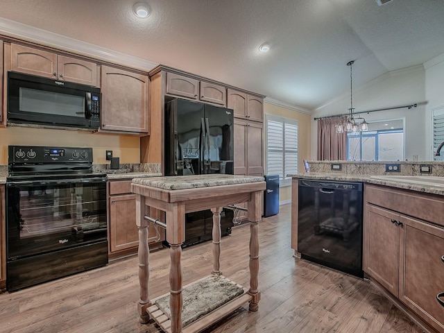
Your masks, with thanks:
M 120 157 L 121 163 L 140 162 L 139 137 L 130 135 L 105 135 L 76 130 L 52 130 L 46 128 L 0 128 L 0 165 L 8 164 L 8 145 L 26 146 L 79 146 L 92 147 L 94 164 L 103 164 L 105 151 Z

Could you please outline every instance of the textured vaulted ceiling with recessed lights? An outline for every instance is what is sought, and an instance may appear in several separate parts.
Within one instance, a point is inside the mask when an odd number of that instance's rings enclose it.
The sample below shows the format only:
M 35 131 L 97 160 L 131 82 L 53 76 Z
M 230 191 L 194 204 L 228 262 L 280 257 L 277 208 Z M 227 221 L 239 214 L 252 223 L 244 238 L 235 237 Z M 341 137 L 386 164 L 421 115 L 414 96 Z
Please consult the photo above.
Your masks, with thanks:
M 133 16 L 133 3 L 153 10 Z M 444 53 L 444 1 L 0 0 L 0 17 L 308 110 Z M 1 31 L 1 26 L 0 26 Z M 271 51 L 260 53 L 268 42 Z

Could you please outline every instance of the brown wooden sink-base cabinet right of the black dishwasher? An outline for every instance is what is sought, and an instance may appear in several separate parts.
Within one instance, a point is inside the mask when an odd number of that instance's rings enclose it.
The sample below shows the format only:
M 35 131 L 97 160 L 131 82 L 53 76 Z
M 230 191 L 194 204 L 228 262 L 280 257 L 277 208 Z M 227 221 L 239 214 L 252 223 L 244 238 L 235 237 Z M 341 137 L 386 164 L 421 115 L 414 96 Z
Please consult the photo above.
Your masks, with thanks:
M 444 198 L 375 185 L 364 195 L 364 271 L 427 329 L 444 332 L 437 300 L 444 293 Z

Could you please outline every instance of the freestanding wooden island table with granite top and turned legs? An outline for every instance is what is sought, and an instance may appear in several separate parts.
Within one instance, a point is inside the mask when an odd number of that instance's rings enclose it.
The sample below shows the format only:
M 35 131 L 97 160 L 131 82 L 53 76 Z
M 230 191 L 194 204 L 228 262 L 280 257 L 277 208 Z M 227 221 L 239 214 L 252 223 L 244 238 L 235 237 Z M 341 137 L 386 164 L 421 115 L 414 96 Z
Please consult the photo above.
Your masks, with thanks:
M 137 227 L 139 228 L 139 282 L 140 300 L 137 308 L 142 323 L 153 318 L 165 332 L 200 332 L 234 309 L 250 302 L 250 311 L 257 311 L 260 299 L 257 273 L 259 271 L 258 222 L 261 219 L 262 193 L 266 188 L 264 178 L 233 175 L 199 175 L 156 178 L 135 178 L 131 189 L 137 195 Z M 210 314 L 190 323 L 182 331 L 182 266 L 180 257 L 185 241 L 185 213 L 211 209 L 213 212 L 213 270 L 220 275 L 221 211 L 223 206 L 248 202 L 250 221 L 250 288 L 234 300 L 215 309 Z M 166 212 L 167 241 L 170 245 L 169 305 L 171 318 L 153 313 L 154 301 L 149 298 L 149 207 Z M 153 217 L 153 216 L 151 216 Z M 160 222 L 162 225 L 163 223 Z

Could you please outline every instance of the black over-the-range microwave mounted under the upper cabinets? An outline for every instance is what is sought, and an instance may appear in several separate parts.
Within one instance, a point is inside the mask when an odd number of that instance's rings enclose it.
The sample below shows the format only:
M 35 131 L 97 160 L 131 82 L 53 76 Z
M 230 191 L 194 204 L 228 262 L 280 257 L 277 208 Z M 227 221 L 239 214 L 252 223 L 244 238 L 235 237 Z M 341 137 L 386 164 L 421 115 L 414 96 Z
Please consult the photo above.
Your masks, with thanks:
M 98 130 L 100 100 L 100 88 L 8 72 L 10 124 Z

